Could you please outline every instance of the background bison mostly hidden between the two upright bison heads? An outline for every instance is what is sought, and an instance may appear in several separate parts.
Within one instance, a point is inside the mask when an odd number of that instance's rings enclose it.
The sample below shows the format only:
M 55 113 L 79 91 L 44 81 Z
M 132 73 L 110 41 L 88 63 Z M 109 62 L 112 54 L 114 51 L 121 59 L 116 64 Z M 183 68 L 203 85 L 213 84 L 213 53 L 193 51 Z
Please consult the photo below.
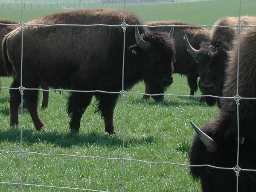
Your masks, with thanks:
M 184 23 L 178 21 L 152 21 L 145 23 L 149 26 L 157 25 L 190 25 L 195 26 L 195 24 Z M 161 31 L 169 32 L 170 26 L 157 26 L 148 27 L 151 31 Z M 195 62 L 192 55 L 187 52 L 186 44 L 184 43 L 183 37 L 187 35 L 191 39 L 191 44 L 196 49 L 200 48 L 202 41 L 210 41 L 211 30 L 203 27 L 174 27 L 173 38 L 175 40 L 176 49 L 176 62 L 173 63 L 174 71 L 173 73 L 179 73 L 180 75 L 185 75 L 187 77 L 187 82 L 190 87 L 190 95 L 198 90 L 198 63 Z M 145 84 L 145 93 L 151 94 L 148 86 Z M 144 95 L 143 98 L 149 98 L 148 95 Z M 203 98 L 203 97 L 202 97 Z M 162 98 L 163 99 L 163 98 Z

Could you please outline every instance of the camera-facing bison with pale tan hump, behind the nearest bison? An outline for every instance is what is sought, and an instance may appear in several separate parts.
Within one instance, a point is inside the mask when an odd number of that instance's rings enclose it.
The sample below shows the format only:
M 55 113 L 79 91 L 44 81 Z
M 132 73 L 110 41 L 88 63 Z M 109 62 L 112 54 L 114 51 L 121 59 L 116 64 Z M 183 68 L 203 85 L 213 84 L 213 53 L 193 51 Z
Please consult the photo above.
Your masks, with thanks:
M 204 95 L 222 96 L 223 84 L 225 81 L 225 70 L 229 61 L 230 52 L 234 48 L 238 38 L 236 27 L 221 27 L 237 25 L 239 17 L 224 17 L 218 20 L 213 29 L 210 41 L 202 42 L 198 49 L 189 44 L 189 37 L 185 35 L 184 40 L 188 52 L 199 64 L 200 89 Z M 242 16 L 241 23 L 256 24 L 256 17 Z M 221 108 L 220 99 L 207 96 L 204 98 L 209 106 L 217 105 Z

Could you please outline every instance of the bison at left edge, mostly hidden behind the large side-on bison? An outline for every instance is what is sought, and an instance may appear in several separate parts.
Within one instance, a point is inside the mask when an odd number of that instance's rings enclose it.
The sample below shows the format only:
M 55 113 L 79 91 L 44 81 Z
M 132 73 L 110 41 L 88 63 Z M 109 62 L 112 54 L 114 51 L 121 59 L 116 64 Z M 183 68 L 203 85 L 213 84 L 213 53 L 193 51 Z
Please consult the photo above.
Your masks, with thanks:
M 0 20 L 0 23 L 18 24 L 18 22 L 13 21 L 13 20 Z M 17 25 L 1 25 L 0 24 L 0 45 L 2 44 L 2 40 L 3 40 L 4 36 L 6 34 L 8 34 L 9 32 L 11 32 L 12 30 L 16 29 L 17 27 L 19 27 L 19 26 L 17 26 Z M 12 77 L 13 76 L 12 68 L 10 68 L 10 70 L 7 73 L 7 71 L 4 67 L 4 64 L 3 64 L 2 56 L 0 57 L 0 76 L 1 77 Z M 49 87 L 44 82 L 42 82 L 40 85 L 41 85 L 42 89 L 49 90 Z M 0 82 L 0 89 L 1 89 L 1 82 Z M 47 108 L 48 100 L 49 100 L 49 92 L 43 91 L 42 108 Z

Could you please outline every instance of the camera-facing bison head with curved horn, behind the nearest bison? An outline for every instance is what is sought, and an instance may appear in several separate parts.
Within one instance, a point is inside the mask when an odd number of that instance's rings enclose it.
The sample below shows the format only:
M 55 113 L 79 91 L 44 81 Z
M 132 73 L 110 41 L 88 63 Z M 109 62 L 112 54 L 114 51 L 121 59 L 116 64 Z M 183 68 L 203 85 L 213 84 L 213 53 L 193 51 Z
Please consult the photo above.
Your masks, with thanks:
M 202 42 L 200 49 L 195 49 L 184 36 L 187 51 L 198 63 L 198 73 L 201 81 L 200 90 L 204 95 L 222 96 L 225 79 L 225 69 L 230 51 L 227 46 L 220 43 Z M 205 97 L 207 105 L 216 102 L 215 97 Z

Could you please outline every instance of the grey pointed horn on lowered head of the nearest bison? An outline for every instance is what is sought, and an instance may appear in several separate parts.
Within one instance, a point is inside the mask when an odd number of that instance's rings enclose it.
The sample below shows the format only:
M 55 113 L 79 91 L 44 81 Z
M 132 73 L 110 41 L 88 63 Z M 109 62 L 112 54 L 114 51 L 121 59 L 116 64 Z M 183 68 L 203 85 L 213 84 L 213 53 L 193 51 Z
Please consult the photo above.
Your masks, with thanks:
M 194 128 L 195 132 L 198 134 L 198 137 L 200 140 L 204 143 L 204 145 L 207 147 L 207 150 L 209 152 L 216 151 L 217 144 L 216 141 L 213 140 L 211 137 L 209 137 L 207 134 L 205 134 L 200 128 L 198 128 L 192 121 L 190 121 L 190 124 Z

